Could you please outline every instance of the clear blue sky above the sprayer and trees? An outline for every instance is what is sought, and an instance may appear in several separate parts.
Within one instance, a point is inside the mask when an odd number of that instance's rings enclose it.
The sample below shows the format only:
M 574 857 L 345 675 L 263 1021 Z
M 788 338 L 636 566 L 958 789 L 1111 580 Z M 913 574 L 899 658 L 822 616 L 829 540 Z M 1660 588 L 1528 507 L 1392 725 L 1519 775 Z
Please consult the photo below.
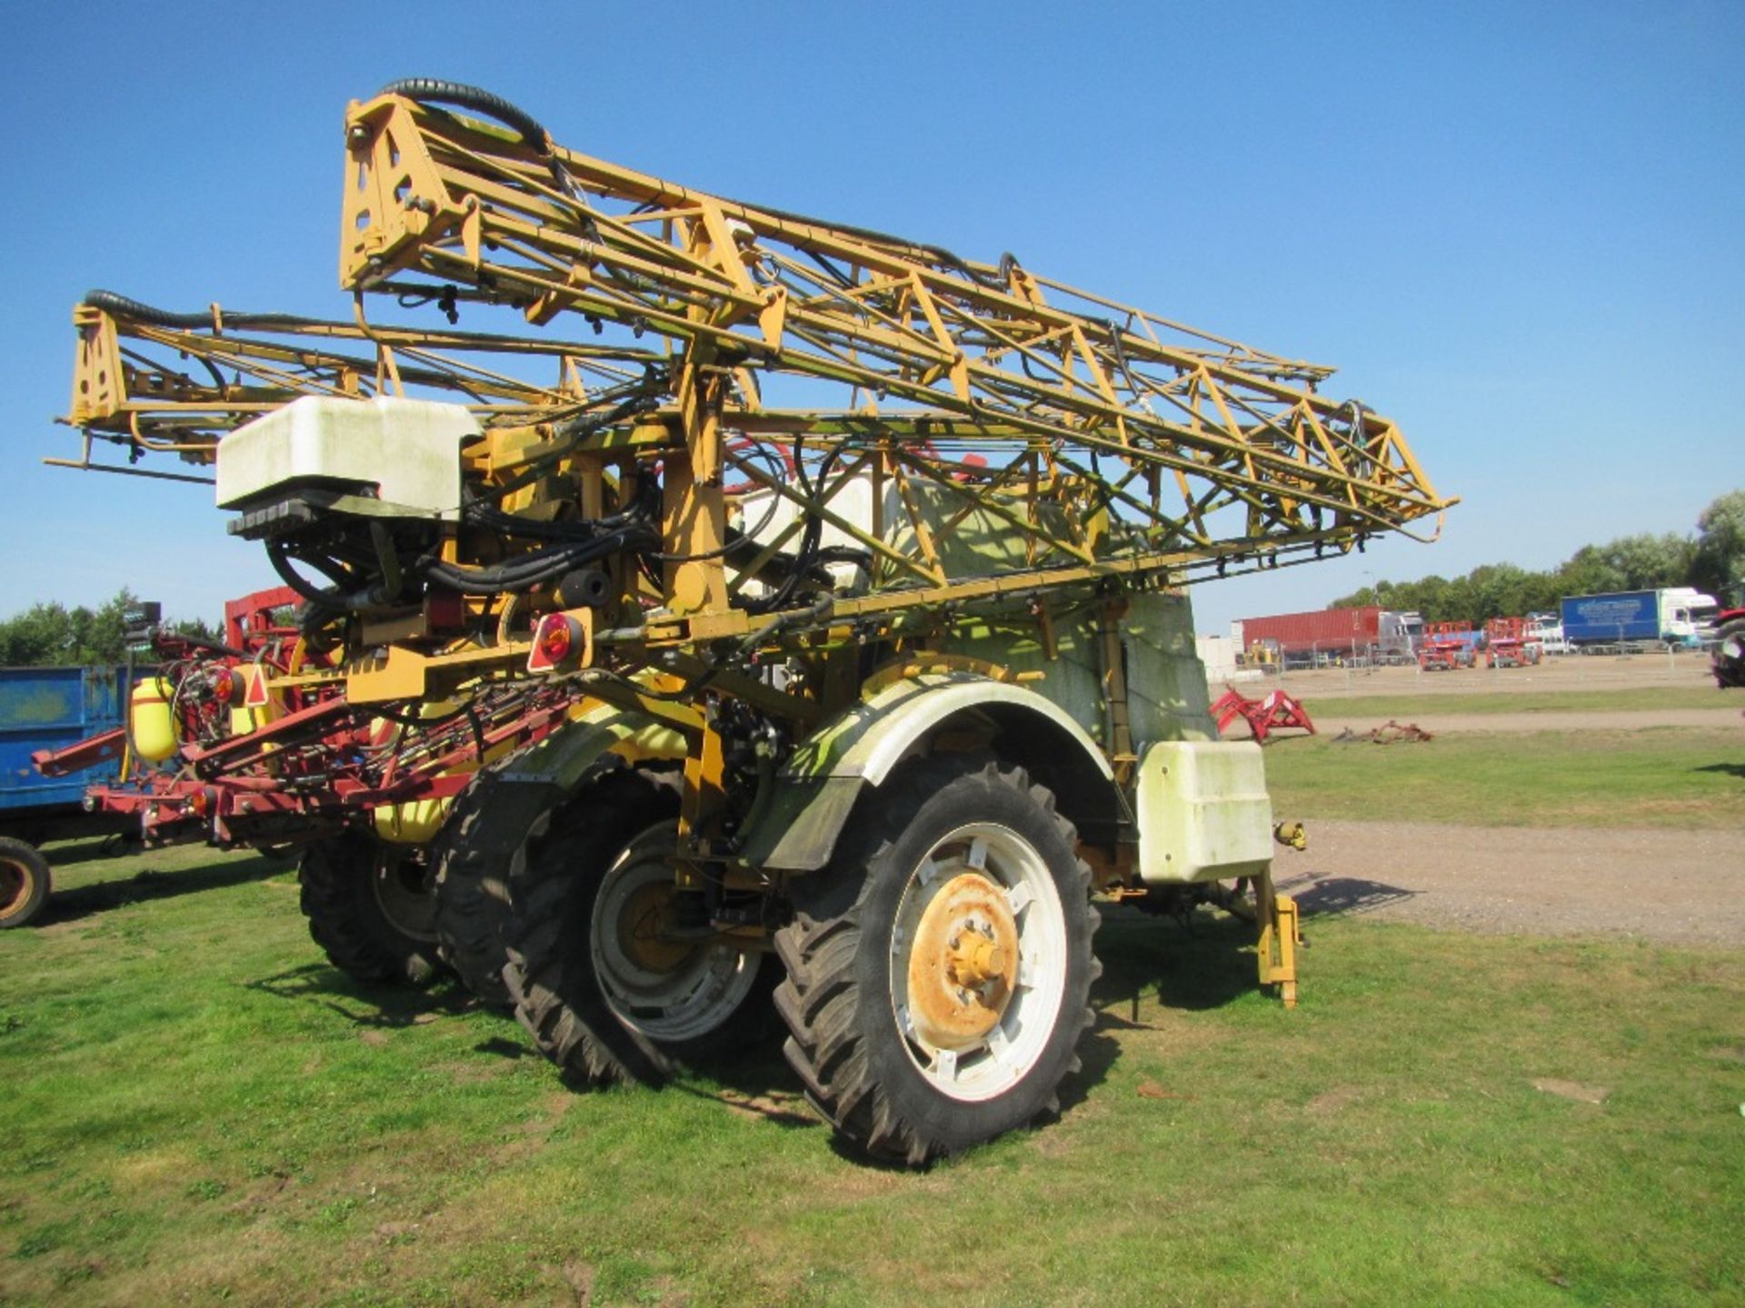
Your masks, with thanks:
M 0 614 L 131 586 L 215 619 L 272 581 L 208 488 L 40 464 L 77 453 L 68 314 L 342 316 L 346 101 L 412 75 L 1338 364 L 1464 502 L 1434 546 L 1199 586 L 1202 631 L 1745 487 L 1742 3 L 17 5 L 7 37 Z

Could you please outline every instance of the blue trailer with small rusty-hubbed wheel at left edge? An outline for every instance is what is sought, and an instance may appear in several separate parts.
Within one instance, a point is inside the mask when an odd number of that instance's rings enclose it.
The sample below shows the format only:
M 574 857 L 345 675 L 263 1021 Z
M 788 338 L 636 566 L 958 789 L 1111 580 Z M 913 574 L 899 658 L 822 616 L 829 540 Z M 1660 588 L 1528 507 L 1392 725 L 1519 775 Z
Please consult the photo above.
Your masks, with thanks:
M 120 776 L 119 748 L 92 752 L 98 762 L 75 774 L 45 776 L 31 762 L 117 731 L 131 691 L 126 668 L 0 668 L 0 928 L 24 926 L 49 900 L 38 844 L 131 827 L 84 809 L 87 785 Z

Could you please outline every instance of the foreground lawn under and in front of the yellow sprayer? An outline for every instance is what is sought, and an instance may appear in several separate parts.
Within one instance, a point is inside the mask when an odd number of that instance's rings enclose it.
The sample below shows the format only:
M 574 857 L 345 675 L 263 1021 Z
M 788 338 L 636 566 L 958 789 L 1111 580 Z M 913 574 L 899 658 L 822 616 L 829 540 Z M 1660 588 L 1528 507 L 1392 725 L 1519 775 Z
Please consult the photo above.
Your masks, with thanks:
M 61 881 L 0 937 L 10 1303 L 1738 1296 L 1724 952 L 1321 921 L 1286 1013 L 1241 926 L 1110 910 L 1061 1120 L 914 1175 L 834 1151 L 773 1046 L 571 1093 L 454 989 L 344 980 L 260 860 Z

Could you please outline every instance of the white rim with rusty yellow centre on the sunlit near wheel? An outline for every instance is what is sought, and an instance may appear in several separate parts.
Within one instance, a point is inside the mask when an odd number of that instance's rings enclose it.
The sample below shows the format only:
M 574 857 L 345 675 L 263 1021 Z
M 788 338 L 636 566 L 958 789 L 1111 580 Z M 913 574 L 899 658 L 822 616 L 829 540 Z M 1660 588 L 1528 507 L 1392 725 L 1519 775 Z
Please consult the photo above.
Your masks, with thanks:
M 1042 853 L 958 827 L 909 874 L 892 930 L 892 1015 L 941 1093 L 979 1102 L 1037 1066 L 1066 991 L 1066 923 Z

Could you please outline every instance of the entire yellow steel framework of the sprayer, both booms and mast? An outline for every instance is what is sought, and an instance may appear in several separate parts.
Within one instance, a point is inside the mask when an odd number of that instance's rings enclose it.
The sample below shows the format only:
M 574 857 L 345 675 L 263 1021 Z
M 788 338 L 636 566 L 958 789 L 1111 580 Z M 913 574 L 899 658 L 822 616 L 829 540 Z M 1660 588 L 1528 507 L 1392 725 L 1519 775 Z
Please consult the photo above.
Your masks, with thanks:
M 525 120 L 400 94 L 349 106 L 344 166 L 354 321 L 82 305 L 68 422 L 86 462 L 92 438 L 206 462 L 227 431 L 300 394 L 473 408 L 485 438 L 462 474 L 494 516 L 421 537 L 419 565 L 440 556 L 459 589 L 550 539 L 520 523 L 635 518 L 642 535 L 602 558 L 612 593 L 555 675 L 684 741 L 681 860 L 735 858 L 731 701 L 801 739 L 867 689 L 866 645 L 904 675 L 951 670 L 967 626 L 1030 621 L 1052 661 L 1056 617 L 1096 612 L 1101 753 L 1119 783 L 1136 752 L 1119 640 L 1131 596 L 1410 535 L 1455 502 L 1396 424 L 1323 394 L 1331 368 L 1010 255 L 970 262 L 707 195 Z M 377 324 L 379 296 L 431 303 L 450 328 Z M 515 335 L 452 330 L 462 307 L 518 312 Z M 522 380 L 527 368 L 546 380 Z M 836 403 L 782 406 L 820 394 Z M 356 532 L 340 558 L 373 549 L 398 576 L 373 527 L 332 525 Z M 455 582 L 454 569 L 476 574 Z M 579 610 L 555 582 L 506 591 L 466 595 L 464 637 L 417 610 L 347 619 L 347 694 L 421 699 L 525 675 L 530 623 Z M 1262 980 L 1293 1003 L 1295 903 L 1270 874 L 1256 889 Z

